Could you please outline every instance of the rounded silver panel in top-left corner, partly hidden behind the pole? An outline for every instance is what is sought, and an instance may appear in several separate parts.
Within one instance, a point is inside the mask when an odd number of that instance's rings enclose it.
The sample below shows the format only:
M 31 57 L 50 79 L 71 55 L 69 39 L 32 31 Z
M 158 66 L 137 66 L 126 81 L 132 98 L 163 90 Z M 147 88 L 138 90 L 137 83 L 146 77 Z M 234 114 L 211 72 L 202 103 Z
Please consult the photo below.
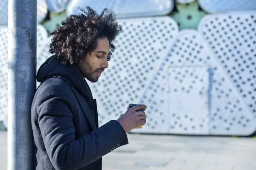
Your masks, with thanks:
M 46 15 L 46 0 L 37 0 L 37 23 L 43 22 Z M 8 26 L 8 0 L 0 0 L 0 18 L 0 25 Z

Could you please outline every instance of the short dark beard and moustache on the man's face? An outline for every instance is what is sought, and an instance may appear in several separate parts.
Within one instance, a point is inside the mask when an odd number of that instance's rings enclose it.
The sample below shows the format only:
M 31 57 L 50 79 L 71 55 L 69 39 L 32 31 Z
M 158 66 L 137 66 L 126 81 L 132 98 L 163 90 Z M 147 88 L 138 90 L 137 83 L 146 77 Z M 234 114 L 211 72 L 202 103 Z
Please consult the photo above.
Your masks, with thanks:
M 77 68 L 80 71 L 80 73 L 82 74 L 82 76 L 85 77 L 90 82 L 98 82 L 99 77 L 97 77 L 94 73 L 96 71 L 104 71 L 105 70 L 105 68 L 97 68 L 95 71 L 93 71 L 92 66 L 86 61 L 81 62 Z

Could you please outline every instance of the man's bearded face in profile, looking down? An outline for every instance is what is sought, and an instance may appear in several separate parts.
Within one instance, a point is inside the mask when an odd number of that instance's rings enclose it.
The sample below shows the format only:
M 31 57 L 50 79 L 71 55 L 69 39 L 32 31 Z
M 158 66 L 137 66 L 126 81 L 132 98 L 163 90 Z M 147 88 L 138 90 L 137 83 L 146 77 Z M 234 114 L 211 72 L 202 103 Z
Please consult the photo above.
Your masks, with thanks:
M 99 39 L 98 46 L 91 52 L 91 56 L 88 53 L 85 59 L 81 60 L 80 64 L 77 65 L 82 77 L 88 79 L 90 82 L 97 82 L 104 69 L 108 68 L 108 53 L 108 38 Z

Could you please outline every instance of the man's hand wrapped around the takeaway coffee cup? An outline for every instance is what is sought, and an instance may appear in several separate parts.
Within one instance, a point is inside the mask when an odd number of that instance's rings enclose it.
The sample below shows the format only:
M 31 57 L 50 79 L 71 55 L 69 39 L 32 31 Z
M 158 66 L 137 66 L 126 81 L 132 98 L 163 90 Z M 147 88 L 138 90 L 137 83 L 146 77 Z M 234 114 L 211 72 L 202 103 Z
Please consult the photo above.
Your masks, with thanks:
M 146 109 L 146 105 L 137 105 L 129 108 L 125 114 L 121 114 L 117 121 L 122 125 L 125 132 L 129 132 L 139 125 L 145 125 L 146 114 L 144 111 L 137 111 L 140 109 Z

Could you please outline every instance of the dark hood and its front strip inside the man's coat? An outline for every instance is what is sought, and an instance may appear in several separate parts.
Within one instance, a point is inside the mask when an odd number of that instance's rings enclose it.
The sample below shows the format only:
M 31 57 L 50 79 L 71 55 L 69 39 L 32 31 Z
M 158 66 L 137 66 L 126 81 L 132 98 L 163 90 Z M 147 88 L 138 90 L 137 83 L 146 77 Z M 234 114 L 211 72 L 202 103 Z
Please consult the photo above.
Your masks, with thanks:
M 87 82 L 81 77 L 79 70 L 75 64 L 62 65 L 58 62 L 57 57 L 49 57 L 44 64 L 38 69 L 37 80 L 43 82 L 49 77 L 56 77 L 65 80 L 70 84 L 73 93 L 76 95 L 77 101 L 81 106 L 93 130 L 96 129 L 95 116 L 93 106 L 93 96 Z M 81 102 L 84 101 L 84 102 Z M 84 105 L 86 103 L 86 105 Z

